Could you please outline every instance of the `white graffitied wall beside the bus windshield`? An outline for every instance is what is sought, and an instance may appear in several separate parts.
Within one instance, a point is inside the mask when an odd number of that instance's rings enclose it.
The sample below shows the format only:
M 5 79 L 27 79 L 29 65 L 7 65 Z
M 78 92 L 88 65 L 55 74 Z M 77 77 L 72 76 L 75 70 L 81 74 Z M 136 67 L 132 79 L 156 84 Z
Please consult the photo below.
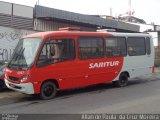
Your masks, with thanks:
M 9 60 L 19 39 L 34 32 L 0 26 L 0 61 Z

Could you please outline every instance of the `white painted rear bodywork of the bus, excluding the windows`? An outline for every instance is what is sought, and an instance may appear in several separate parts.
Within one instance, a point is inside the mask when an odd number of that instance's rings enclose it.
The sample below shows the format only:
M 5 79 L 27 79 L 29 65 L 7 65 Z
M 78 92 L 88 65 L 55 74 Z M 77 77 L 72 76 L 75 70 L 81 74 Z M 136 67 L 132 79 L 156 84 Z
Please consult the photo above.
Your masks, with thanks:
M 124 57 L 123 67 L 120 72 L 128 72 L 130 78 L 151 74 L 154 67 L 154 45 L 153 39 L 149 34 L 144 33 L 111 33 L 115 37 L 149 37 L 151 54 L 150 55 L 140 55 L 140 56 L 127 56 Z M 120 74 L 113 80 L 116 81 L 119 79 Z

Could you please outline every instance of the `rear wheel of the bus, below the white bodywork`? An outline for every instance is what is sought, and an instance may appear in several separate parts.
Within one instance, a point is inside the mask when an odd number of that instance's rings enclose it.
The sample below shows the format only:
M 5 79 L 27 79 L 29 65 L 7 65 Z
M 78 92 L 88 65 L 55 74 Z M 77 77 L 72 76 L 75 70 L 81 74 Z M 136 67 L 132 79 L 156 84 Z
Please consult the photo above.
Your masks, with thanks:
M 128 84 L 128 76 L 126 73 L 121 73 L 119 80 L 113 82 L 117 87 L 125 87 Z

